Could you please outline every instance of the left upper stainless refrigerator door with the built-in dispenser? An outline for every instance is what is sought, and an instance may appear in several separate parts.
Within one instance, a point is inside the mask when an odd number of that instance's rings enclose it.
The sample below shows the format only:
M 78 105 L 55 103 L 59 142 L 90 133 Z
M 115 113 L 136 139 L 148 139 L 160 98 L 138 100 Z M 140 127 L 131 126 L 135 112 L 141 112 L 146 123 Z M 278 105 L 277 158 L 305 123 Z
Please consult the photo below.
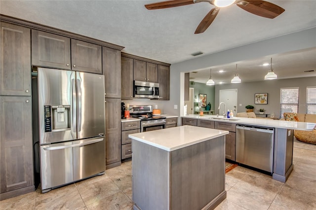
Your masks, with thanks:
M 36 130 L 39 129 L 40 144 L 77 139 L 76 97 L 76 73 L 74 71 L 38 68 L 39 128 Z M 68 109 L 65 112 L 67 117 L 60 115 L 63 113 L 60 112 L 53 119 L 54 110 L 57 107 L 63 107 L 61 109 L 66 107 Z M 68 128 L 54 129 L 51 126 L 51 129 L 47 130 L 47 116 L 51 117 L 51 125 L 53 122 L 64 122 L 69 119 Z

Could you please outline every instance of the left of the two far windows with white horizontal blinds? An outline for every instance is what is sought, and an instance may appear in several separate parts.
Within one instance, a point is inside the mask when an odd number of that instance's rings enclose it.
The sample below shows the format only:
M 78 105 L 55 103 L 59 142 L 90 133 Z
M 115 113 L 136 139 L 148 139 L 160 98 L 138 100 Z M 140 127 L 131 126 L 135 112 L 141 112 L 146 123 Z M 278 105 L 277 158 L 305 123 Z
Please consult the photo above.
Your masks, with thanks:
M 284 112 L 298 112 L 298 94 L 299 88 L 281 88 L 280 93 L 280 118 Z

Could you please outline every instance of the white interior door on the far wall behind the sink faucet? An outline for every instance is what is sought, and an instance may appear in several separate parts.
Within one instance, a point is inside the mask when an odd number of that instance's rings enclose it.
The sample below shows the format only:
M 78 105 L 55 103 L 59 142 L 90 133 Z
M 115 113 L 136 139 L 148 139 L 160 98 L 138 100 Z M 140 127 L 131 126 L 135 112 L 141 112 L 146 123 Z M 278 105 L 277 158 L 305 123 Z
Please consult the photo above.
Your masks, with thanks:
M 224 105 L 221 106 L 219 114 L 222 115 L 223 111 L 227 114 L 227 110 L 233 110 L 234 116 L 237 113 L 237 89 L 230 90 L 220 90 L 219 91 L 219 103 L 224 102 L 226 105 L 226 110 L 224 110 Z

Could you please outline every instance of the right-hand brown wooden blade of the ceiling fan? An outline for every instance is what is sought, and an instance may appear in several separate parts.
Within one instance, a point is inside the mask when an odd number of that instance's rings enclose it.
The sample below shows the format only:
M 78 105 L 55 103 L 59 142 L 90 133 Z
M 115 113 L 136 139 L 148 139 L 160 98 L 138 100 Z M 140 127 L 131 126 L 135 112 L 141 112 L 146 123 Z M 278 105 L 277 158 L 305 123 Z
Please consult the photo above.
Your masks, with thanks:
M 282 7 L 264 0 L 240 0 L 237 6 L 252 14 L 271 19 L 285 11 Z

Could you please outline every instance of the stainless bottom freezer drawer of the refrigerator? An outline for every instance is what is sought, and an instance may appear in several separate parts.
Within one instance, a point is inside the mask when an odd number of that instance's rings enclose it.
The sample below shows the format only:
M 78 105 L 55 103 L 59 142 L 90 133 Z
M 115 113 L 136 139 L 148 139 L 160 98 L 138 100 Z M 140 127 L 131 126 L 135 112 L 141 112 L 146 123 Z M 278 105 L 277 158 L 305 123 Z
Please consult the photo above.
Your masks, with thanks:
M 105 171 L 104 137 L 40 146 L 42 192 Z

